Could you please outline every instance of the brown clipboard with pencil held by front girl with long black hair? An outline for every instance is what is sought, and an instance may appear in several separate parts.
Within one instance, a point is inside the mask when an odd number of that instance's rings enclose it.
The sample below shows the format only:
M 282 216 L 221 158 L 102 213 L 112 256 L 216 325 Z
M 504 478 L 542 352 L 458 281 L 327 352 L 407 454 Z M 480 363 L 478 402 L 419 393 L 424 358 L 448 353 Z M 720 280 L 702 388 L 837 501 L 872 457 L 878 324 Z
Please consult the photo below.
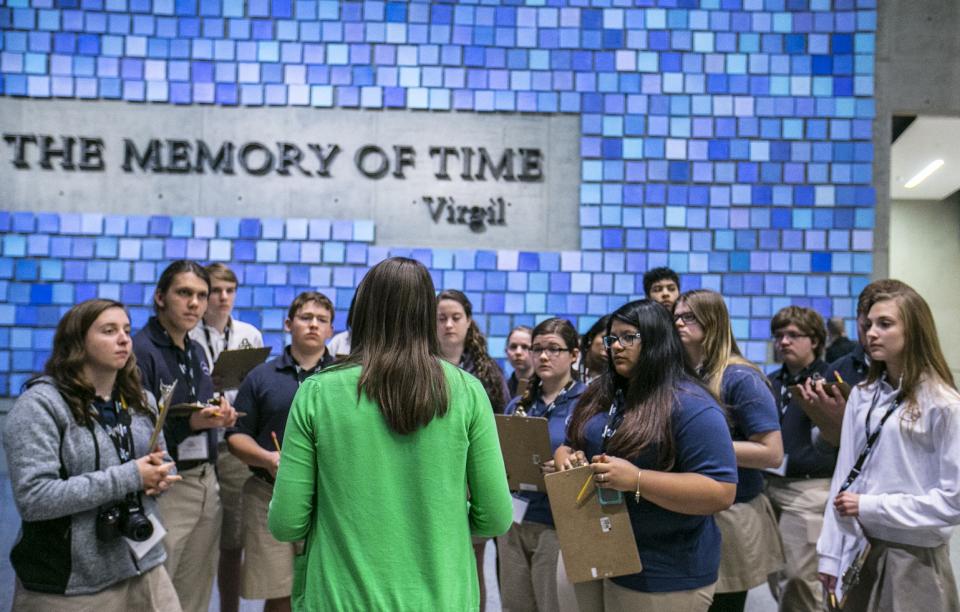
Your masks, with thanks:
M 547 474 L 544 479 L 553 522 L 571 582 L 636 574 L 643 569 L 626 502 L 601 505 L 594 492 L 577 503 L 590 466 Z M 594 487 L 591 482 L 588 487 Z

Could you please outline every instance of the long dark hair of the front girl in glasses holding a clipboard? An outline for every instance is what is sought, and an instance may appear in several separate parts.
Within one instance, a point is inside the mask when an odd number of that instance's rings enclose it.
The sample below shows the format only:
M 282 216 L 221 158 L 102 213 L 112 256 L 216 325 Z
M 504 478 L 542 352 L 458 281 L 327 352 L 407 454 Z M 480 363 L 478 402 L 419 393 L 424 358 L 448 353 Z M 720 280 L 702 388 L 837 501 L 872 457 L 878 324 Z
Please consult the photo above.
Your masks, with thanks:
M 586 448 L 587 421 L 609 410 L 620 392 L 624 398 L 623 422 L 610 438 L 607 450 L 630 459 L 655 445 L 659 466 L 669 470 L 676 460 L 671 417 L 677 387 L 683 380 L 695 382 L 686 366 L 683 344 L 667 309 L 653 300 L 636 300 L 615 310 L 607 322 L 607 335 L 614 321 L 632 325 L 640 332 L 639 359 L 629 376 L 623 377 L 613 367 L 613 355 L 607 349 L 607 372 L 580 397 L 567 435 L 575 448 Z

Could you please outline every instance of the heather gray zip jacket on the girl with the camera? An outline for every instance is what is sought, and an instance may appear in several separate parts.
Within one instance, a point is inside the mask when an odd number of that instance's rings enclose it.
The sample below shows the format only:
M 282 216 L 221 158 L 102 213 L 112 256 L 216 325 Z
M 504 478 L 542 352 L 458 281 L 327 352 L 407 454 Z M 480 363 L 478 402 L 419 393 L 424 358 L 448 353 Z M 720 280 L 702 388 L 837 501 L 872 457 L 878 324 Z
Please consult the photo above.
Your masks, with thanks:
M 131 416 L 140 457 L 147 454 L 153 422 L 141 412 Z M 160 440 L 166 449 L 162 436 Z M 100 471 L 95 467 L 97 446 Z M 138 561 L 123 538 L 97 539 L 101 508 L 141 491 L 140 472 L 133 461 L 120 463 L 102 427 L 76 422 L 52 379 L 40 378 L 17 399 L 4 425 L 3 447 L 23 519 L 10 559 L 25 588 L 64 595 L 96 593 L 164 562 L 162 542 Z M 160 518 L 154 498 L 141 499 L 146 514 Z

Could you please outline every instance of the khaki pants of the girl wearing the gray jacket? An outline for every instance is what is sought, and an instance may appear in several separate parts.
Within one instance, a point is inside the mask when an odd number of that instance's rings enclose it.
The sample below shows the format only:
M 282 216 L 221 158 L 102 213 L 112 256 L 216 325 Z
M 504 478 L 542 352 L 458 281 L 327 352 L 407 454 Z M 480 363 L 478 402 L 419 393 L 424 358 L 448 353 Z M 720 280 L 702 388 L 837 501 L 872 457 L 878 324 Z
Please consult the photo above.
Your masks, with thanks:
M 17 612 L 113 612 L 116 610 L 151 610 L 180 612 L 177 592 L 173 590 L 167 570 L 158 565 L 142 576 L 134 576 L 92 595 L 53 595 L 23 588 L 16 581 L 13 610 Z

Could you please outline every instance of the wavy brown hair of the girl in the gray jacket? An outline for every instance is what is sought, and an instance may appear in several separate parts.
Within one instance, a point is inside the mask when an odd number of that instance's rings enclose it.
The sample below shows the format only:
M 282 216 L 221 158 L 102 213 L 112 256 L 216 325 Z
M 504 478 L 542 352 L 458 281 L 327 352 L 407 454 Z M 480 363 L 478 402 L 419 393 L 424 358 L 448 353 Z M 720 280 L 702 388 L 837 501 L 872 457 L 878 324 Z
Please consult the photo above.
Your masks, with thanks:
M 80 302 L 68 310 L 57 324 L 57 331 L 53 336 L 53 351 L 44 366 L 44 374 L 53 379 L 60 395 L 70 407 L 73 418 L 81 425 L 91 422 L 90 404 L 97 396 L 93 385 L 83 374 L 83 365 L 87 359 L 87 332 L 97 317 L 111 308 L 126 311 L 120 302 L 99 298 Z M 144 402 L 137 359 L 132 351 L 123 368 L 117 372 L 113 391 L 123 398 L 128 408 L 150 414 Z

